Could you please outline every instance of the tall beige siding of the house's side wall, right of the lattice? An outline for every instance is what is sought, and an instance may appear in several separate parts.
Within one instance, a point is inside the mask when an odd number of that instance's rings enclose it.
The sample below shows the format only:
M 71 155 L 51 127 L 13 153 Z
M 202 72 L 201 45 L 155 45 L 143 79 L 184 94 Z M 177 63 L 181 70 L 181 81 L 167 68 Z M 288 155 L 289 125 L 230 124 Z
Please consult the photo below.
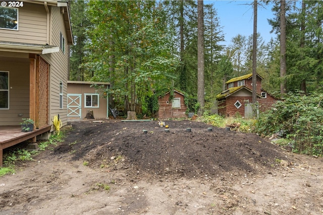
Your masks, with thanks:
M 42 57 L 49 66 L 49 121 L 60 114 L 63 125 L 67 124 L 67 71 L 68 71 L 68 47 L 67 36 L 64 28 L 63 15 L 60 8 L 51 7 L 51 41 L 50 44 L 60 46 L 60 32 L 65 38 L 65 53 L 59 52 L 45 54 Z M 60 81 L 63 82 L 63 109 L 60 109 Z

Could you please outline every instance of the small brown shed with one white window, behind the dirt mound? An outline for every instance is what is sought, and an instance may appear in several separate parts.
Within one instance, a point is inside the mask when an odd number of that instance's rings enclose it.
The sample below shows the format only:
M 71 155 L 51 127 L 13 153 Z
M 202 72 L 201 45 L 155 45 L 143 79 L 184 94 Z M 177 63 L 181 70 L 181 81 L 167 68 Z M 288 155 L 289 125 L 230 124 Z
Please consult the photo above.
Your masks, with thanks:
M 186 118 L 187 114 L 185 112 L 187 107 L 184 102 L 184 94 L 174 90 L 172 100 L 170 100 L 170 96 L 171 92 L 168 92 L 165 96 L 158 98 L 158 118 Z

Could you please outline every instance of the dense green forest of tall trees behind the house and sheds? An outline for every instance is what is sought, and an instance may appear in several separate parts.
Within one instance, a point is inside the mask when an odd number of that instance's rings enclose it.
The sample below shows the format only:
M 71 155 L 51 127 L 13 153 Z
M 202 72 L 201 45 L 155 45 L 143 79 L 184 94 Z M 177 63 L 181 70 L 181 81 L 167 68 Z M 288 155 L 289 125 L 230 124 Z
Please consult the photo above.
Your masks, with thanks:
M 110 82 L 109 104 L 119 110 L 153 115 L 157 98 L 177 89 L 190 111 L 197 110 L 196 1 L 71 1 L 75 45 L 70 47 L 70 80 Z M 223 90 L 223 79 L 252 73 L 253 35 L 224 41 L 217 9 L 204 2 L 205 112 Z M 250 2 L 252 5 L 253 2 Z M 300 7 L 301 6 L 301 7 Z M 304 6 L 304 8 L 303 8 Z M 309 95 L 323 86 L 323 2 L 286 1 L 286 75 L 280 75 L 280 1 L 258 1 L 270 8 L 276 37 L 257 35 L 257 73 L 262 88 L 277 97 Z M 250 23 L 248 23 L 251 25 Z M 192 110 L 193 109 L 193 110 Z

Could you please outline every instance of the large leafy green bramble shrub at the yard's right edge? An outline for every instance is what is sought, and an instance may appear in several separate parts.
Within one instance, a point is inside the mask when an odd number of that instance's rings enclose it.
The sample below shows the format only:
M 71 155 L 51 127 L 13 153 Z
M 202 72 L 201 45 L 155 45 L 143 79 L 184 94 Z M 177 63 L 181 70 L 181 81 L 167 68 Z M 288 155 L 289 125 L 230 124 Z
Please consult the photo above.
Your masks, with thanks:
M 323 94 L 286 95 L 272 110 L 260 114 L 255 131 L 270 135 L 283 130 L 294 143 L 294 152 L 322 156 Z

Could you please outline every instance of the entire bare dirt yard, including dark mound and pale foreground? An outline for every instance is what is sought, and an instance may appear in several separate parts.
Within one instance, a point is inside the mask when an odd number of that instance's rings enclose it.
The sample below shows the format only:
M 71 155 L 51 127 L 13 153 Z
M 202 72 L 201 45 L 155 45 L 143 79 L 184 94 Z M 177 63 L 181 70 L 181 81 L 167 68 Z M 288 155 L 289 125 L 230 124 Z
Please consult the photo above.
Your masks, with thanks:
M 0 178 L 0 214 L 323 214 L 322 158 L 165 122 L 169 132 L 157 121 L 72 122 L 64 142 Z

